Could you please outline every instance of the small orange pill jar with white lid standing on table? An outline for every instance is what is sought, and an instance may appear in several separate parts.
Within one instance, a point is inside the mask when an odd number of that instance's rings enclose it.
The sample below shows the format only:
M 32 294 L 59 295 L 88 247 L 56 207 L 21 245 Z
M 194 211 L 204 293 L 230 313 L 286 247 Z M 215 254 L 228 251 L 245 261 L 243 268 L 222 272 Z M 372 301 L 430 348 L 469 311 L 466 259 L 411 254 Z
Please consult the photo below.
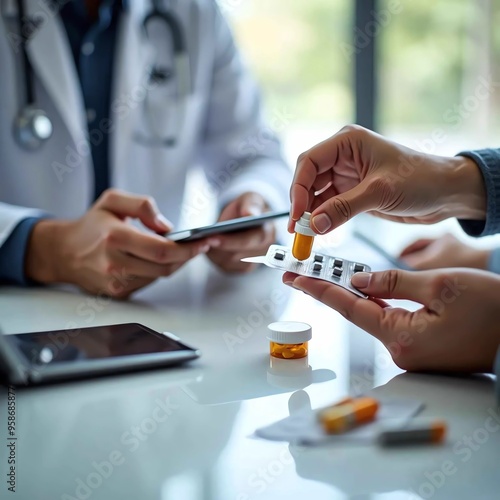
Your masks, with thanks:
M 280 359 L 305 358 L 312 338 L 311 325 L 298 321 L 277 321 L 268 325 L 271 356 Z

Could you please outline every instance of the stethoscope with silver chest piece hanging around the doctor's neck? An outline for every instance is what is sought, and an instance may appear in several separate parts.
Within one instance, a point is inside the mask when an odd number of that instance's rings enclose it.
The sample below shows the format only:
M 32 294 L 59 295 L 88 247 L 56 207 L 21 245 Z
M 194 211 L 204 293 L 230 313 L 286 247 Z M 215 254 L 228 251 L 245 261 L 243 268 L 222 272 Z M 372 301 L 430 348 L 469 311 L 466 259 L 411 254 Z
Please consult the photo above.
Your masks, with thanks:
M 17 0 L 17 29 L 20 37 L 24 103 L 14 120 L 13 130 L 19 146 L 27 151 L 36 151 L 52 136 L 53 125 L 47 113 L 36 105 L 33 67 L 27 52 L 28 39 L 23 35 L 27 22 L 24 2 L 25 0 Z M 153 85 L 165 85 L 175 76 L 177 99 L 182 99 L 191 92 L 191 72 L 186 39 L 180 21 L 173 12 L 162 9 L 160 2 L 161 0 L 152 0 L 151 11 L 144 18 L 142 28 L 146 37 L 149 38 L 148 29 L 151 22 L 157 20 L 168 27 L 172 38 L 173 68 L 169 69 L 154 63 L 149 70 L 149 80 Z M 150 122 L 149 128 L 153 131 L 154 124 Z M 153 141 L 149 142 L 173 146 L 176 139 L 173 136 L 162 137 L 161 134 L 156 133 Z

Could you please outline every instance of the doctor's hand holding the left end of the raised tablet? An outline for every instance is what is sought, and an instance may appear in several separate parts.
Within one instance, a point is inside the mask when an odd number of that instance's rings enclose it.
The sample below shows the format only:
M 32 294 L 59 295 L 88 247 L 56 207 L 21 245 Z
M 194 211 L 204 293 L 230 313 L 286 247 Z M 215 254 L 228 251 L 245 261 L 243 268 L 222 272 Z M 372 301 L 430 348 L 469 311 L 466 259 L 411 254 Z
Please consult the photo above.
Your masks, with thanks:
M 209 249 L 206 240 L 179 245 L 146 234 L 128 224 L 127 217 L 157 233 L 172 228 L 151 198 L 108 190 L 80 219 L 35 225 L 27 249 L 27 277 L 126 298 Z

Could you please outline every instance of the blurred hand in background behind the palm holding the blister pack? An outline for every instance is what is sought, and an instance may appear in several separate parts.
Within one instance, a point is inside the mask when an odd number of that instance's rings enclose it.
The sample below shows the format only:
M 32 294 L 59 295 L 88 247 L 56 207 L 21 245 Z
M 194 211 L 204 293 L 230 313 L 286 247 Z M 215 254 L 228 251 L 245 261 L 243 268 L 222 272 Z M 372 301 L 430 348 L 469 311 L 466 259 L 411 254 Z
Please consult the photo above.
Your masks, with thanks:
M 488 269 L 491 250 L 474 248 L 445 234 L 441 238 L 423 238 L 408 245 L 400 259 L 413 269 L 440 269 L 442 267 L 471 267 Z

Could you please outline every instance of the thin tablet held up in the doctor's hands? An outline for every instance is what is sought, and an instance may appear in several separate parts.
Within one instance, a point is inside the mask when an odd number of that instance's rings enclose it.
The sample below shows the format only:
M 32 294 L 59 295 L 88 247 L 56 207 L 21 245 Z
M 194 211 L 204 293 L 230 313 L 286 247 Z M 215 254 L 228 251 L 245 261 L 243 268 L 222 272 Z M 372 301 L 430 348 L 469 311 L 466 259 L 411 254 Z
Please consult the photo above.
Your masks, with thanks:
M 244 231 L 253 227 L 262 226 L 264 223 L 277 219 L 279 217 L 288 217 L 290 212 L 265 212 L 262 215 L 251 215 L 249 217 L 240 217 L 238 219 L 225 220 L 217 222 L 211 226 L 197 227 L 194 229 L 185 229 L 184 231 L 175 231 L 165 235 L 171 241 L 194 241 L 207 236 L 214 236 L 216 234 L 233 233 L 237 231 Z

